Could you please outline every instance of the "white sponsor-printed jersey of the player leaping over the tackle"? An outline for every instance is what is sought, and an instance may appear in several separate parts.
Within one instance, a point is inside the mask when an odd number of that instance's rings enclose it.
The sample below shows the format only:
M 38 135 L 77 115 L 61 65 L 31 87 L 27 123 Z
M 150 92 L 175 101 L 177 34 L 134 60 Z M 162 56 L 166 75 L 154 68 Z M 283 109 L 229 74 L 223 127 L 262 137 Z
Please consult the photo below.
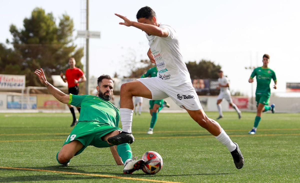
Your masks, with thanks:
M 191 82 L 190 73 L 181 55 L 176 31 L 166 24 L 160 24 L 159 27 L 168 30 L 168 37 L 148 36 L 146 34 L 155 58 L 157 76 L 164 80 L 165 84 L 173 87 Z

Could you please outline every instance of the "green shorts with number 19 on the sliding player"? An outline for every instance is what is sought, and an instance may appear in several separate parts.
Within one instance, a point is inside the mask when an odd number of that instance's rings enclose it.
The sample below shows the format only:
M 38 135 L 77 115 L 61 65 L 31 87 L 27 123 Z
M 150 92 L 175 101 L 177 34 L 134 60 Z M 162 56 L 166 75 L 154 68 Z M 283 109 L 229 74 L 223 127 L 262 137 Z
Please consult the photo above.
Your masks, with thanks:
M 64 145 L 73 140 L 80 141 L 83 147 L 76 152 L 75 156 L 79 155 L 87 146 L 110 147 L 112 145 L 109 145 L 102 137 L 115 130 L 121 130 L 121 128 L 103 125 L 97 121 L 81 121 L 73 128 Z

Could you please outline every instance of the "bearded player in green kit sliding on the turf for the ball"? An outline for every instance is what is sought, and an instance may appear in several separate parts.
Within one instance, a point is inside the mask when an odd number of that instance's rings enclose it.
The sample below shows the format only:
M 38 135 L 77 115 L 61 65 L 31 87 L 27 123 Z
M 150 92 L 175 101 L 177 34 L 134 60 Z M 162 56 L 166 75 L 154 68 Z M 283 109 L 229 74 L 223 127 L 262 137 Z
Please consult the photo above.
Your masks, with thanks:
M 98 96 L 93 95 L 66 95 L 52 86 L 45 77 L 43 69 L 36 70 L 42 84 L 60 102 L 81 107 L 77 125 L 65 140 L 56 160 L 63 166 L 68 166 L 73 156 L 79 155 L 87 146 L 98 148 L 110 147 L 113 157 L 118 165 L 123 165 L 123 173 L 133 173 L 139 170 L 144 160 L 132 160 L 131 147 L 128 143 L 114 146 L 107 142 L 108 137 L 121 132 L 119 125 L 120 111 L 109 102 L 113 94 L 113 80 L 109 75 L 98 78 Z

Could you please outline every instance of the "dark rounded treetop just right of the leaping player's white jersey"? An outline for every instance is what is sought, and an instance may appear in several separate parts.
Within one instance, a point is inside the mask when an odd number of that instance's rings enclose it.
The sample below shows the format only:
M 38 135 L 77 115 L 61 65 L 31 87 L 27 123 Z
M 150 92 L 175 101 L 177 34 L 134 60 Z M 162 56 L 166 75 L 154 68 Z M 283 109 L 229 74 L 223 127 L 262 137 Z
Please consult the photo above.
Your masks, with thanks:
M 186 63 L 187 70 L 190 72 L 191 79 L 217 79 L 220 65 L 215 65 L 212 61 L 202 59 L 199 63 L 189 61 Z

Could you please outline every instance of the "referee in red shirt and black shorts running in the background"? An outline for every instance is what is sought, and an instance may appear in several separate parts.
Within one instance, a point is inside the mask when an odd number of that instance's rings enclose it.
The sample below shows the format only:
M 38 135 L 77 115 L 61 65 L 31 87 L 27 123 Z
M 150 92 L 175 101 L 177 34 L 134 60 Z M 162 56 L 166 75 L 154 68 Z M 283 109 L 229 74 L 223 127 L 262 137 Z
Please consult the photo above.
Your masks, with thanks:
M 82 70 L 75 67 L 76 61 L 73 57 L 69 59 L 69 66 L 70 68 L 66 70 L 66 74 L 64 77 L 64 74 L 61 72 L 60 77 L 64 82 L 68 82 L 68 88 L 69 88 L 69 94 L 72 93 L 73 95 L 78 95 L 79 93 L 79 83 L 85 82 L 86 78 L 85 75 L 83 74 Z M 73 122 L 71 126 L 74 126 L 78 120 L 76 119 L 75 116 L 75 111 L 72 105 L 67 104 L 68 107 L 70 108 L 70 111 L 73 115 Z M 78 112 L 80 113 L 80 108 L 77 107 Z

